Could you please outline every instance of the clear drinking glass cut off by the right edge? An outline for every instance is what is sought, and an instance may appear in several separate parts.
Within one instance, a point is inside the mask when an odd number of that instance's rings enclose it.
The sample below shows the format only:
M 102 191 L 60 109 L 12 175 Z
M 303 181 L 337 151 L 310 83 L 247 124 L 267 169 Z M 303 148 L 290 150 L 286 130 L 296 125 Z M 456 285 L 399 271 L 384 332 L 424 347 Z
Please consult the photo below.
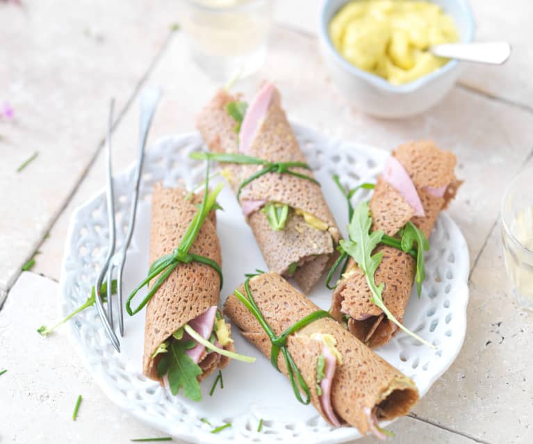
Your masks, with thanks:
M 518 304 L 533 310 L 533 168 L 516 176 L 502 201 L 505 267 Z

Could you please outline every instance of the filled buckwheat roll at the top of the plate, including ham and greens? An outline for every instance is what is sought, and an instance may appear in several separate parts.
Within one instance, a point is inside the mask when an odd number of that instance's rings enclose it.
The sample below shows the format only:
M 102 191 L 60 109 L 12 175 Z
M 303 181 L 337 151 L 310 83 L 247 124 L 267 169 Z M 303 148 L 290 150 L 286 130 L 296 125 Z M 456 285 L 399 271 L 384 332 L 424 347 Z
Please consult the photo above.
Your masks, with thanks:
M 269 165 L 224 162 L 225 176 L 268 268 L 294 276 L 309 291 L 334 261 L 339 231 L 281 108 L 279 92 L 264 83 L 247 105 L 240 94 L 220 90 L 199 114 L 197 129 L 213 154 L 276 164 L 248 181 Z

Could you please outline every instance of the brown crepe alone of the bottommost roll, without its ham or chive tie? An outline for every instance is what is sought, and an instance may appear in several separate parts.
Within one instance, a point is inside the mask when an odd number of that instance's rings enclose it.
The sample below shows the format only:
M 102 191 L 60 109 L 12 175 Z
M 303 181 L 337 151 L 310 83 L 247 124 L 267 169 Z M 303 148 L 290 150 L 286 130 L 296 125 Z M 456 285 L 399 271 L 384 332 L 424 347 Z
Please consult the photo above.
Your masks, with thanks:
M 249 287 L 259 311 L 277 336 L 304 316 L 320 310 L 279 274 L 253 277 Z M 244 286 L 240 286 L 239 290 L 246 295 Z M 235 295 L 227 298 L 224 313 L 243 336 L 270 359 L 270 339 L 254 315 Z M 342 425 L 355 426 L 362 434 L 366 434 L 372 425 L 365 409 L 370 409 L 378 419 L 393 419 L 409 412 L 418 400 L 414 382 L 354 338 L 341 324 L 331 318 L 321 318 L 288 336 L 286 345 L 309 386 L 311 404 L 325 420 L 329 422 L 315 388 L 316 365 L 322 343 L 312 339 L 311 335 L 317 333 L 334 336 L 336 349 L 342 355 L 342 363 L 336 365 L 331 386 L 331 405 Z M 278 365 L 279 370 L 288 375 L 281 353 Z M 274 368 L 272 372 L 275 372 Z

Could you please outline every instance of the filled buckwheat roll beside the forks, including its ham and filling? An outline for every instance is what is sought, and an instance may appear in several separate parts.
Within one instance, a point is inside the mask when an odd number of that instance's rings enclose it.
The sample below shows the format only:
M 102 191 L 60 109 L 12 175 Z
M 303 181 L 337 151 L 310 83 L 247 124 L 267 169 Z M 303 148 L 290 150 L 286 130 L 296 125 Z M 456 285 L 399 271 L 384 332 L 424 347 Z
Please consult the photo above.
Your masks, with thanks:
M 150 263 L 174 252 L 199 211 L 197 206 L 202 202 L 202 195 L 189 195 L 189 199 L 186 199 L 186 196 L 186 190 L 179 188 L 154 188 Z M 202 255 L 220 266 L 222 256 L 215 224 L 215 211 L 210 211 L 188 253 Z M 151 283 L 156 280 L 153 279 Z M 179 263 L 147 304 L 142 365 L 142 373 L 146 377 L 161 382 L 164 379 L 165 383 L 170 380 L 172 387 L 173 364 L 163 364 L 165 359 L 174 357 L 174 352 L 186 354 L 199 366 L 199 369 L 192 367 L 188 359 L 183 359 L 186 361 L 183 365 L 195 369 L 191 372 L 195 372 L 194 377 L 197 377 L 198 381 L 227 365 L 227 356 L 209 350 L 187 331 L 183 331 L 183 327 L 188 325 L 215 346 L 233 351 L 231 327 L 224 322 L 218 311 L 219 297 L 220 277 L 212 267 L 197 261 Z M 174 347 L 177 350 L 174 350 Z M 167 368 L 163 370 L 161 365 Z M 183 384 L 183 387 L 186 389 L 186 384 Z M 186 390 L 185 395 L 191 399 L 197 398 L 198 395 L 201 397 L 199 390 L 191 391 L 193 393 Z

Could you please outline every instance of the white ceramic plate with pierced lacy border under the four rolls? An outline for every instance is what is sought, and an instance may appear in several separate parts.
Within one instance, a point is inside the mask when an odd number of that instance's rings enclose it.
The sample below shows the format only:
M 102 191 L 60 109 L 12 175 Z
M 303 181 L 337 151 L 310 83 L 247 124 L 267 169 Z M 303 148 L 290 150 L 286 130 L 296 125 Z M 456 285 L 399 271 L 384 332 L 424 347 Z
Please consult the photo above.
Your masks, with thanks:
M 331 179 L 336 172 L 341 181 L 355 186 L 374 181 L 388 154 L 380 149 L 354 143 L 327 140 L 318 133 L 294 125 L 295 133 L 315 176 L 322 183 L 331 211 L 346 235 L 345 199 Z M 202 148 L 197 133 L 165 138 L 147 151 L 142 174 L 136 230 L 124 270 L 124 297 L 148 268 L 150 192 L 154 183 L 165 186 L 178 183 L 192 187 L 204 179 L 204 163 L 190 161 L 188 154 Z M 115 177 L 118 220 L 126 220 L 133 166 Z M 362 198 L 361 193 L 355 199 Z M 221 304 L 244 280 L 246 272 L 265 270 L 252 231 L 240 212 L 229 187 L 218 199 L 224 211 L 218 212 L 218 235 L 222 244 L 224 288 Z M 124 216 L 124 217 L 123 217 Z M 60 311 L 71 312 L 85 301 L 106 254 L 108 230 L 104 190 L 79 207 L 72 215 L 60 282 Z M 121 224 L 124 222 L 120 222 Z M 118 245 L 122 239 L 122 230 Z M 411 295 L 404 324 L 438 347 L 424 347 L 402 333 L 377 352 L 396 368 L 413 378 L 423 396 L 434 381 L 454 361 L 466 331 L 468 302 L 468 248 L 461 232 L 448 215 L 438 217 L 430 238 L 431 252 L 426 256 L 427 279 L 423 296 Z M 322 283 L 309 295 L 313 302 L 329 309 L 331 291 Z M 140 300 L 140 299 L 139 299 Z M 295 400 L 290 382 L 274 370 L 270 361 L 259 354 L 234 330 L 238 352 L 256 356 L 254 364 L 232 361 L 224 369 L 224 389 L 209 390 L 215 375 L 202 384 L 204 399 L 192 402 L 169 391 L 141 373 L 145 313 L 133 318 L 125 313 L 125 337 L 122 353 L 108 343 L 94 307 L 69 323 L 72 340 L 88 370 L 104 392 L 124 411 L 131 413 L 166 434 L 195 443 L 340 443 L 360 436 L 350 427 L 332 429 L 318 416 L 313 406 Z M 213 427 L 231 422 L 219 434 L 201 421 L 207 418 Z M 263 429 L 257 432 L 260 419 Z

